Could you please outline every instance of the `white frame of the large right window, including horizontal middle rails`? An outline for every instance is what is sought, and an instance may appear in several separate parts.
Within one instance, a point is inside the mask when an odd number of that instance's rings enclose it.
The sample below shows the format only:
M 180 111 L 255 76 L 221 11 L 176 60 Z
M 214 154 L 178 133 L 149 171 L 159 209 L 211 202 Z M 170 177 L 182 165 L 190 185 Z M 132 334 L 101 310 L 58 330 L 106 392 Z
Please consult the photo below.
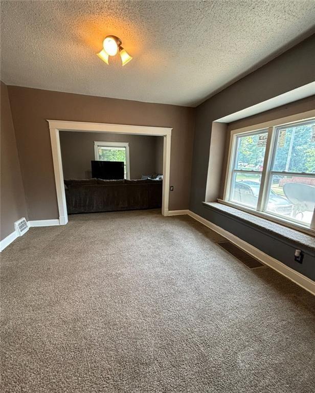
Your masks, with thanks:
M 235 207 L 239 210 L 243 210 L 254 215 L 263 217 L 267 220 L 274 221 L 278 224 L 285 225 L 287 227 L 298 229 L 302 232 L 315 235 L 315 208 L 312 214 L 312 220 L 310 226 L 303 225 L 301 222 L 294 220 L 286 220 L 283 216 L 277 213 L 271 213 L 266 211 L 266 206 L 268 203 L 268 195 L 271 188 L 271 179 L 272 174 L 281 174 L 282 176 L 292 176 L 292 175 L 300 175 L 300 176 L 315 176 L 315 173 L 306 173 L 306 172 L 286 172 L 286 171 L 274 171 L 271 170 L 275 155 L 276 155 L 276 140 L 279 132 L 279 128 L 285 126 L 291 126 L 295 123 L 306 123 L 315 118 L 315 110 L 308 111 L 303 114 L 297 114 L 293 116 L 289 116 L 286 118 L 275 119 L 272 121 L 268 121 L 265 123 L 260 123 L 252 126 L 246 126 L 238 129 L 231 130 L 230 143 L 229 143 L 229 153 L 228 153 L 228 162 L 227 162 L 227 171 L 224 182 L 224 191 L 223 191 L 223 199 L 218 199 L 218 202 Z M 236 141 L 237 137 L 240 135 L 253 135 L 262 133 L 267 130 L 267 143 L 265 148 L 265 156 L 263 161 L 263 169 L 262 171 L 251 171 L 251 170 L 238 170 L 234 169 L 235 167 L 235 159 L 236 159 Z M 244 204 L 230 201 L 231 190 L 232 190 L 232 182 L 233 175 L 235 172 L 249 172 L 249 173 L 259 173 L 261 174 L 260 180 L 260 189 L 258 194 L 257 207 L 251 208 Z

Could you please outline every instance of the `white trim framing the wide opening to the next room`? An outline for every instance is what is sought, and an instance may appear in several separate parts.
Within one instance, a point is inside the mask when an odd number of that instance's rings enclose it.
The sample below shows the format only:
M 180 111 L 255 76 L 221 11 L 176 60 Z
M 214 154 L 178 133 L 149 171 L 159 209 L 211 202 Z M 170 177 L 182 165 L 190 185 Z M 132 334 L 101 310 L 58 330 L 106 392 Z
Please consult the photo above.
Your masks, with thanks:
M 55 184 L 59 210 L 60 225 L 68 223 L 68 212 L 65 202 L 63 185 L 63 170 L 60 149 L 59 131 L 92 132 L 92 133 L 115 133 L 133 135 L 163 136 L 163 190 L 162 190 L 162 214 L 168 215 L 169 184 L 171 166 L 171 134 L 172 128 L 138 126 L 128 124 L 89 123 L 81 121 L 47 120 L 49 123 L 50 139 L 52 146 Z

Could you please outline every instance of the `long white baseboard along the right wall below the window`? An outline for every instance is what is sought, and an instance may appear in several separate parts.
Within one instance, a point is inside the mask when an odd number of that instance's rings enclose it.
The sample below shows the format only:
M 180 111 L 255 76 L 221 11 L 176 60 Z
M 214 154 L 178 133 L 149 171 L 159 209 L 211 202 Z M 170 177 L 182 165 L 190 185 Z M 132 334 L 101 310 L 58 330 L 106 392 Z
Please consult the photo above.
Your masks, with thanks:
M 265 254 L 264 252 L 260 251 L 258 248 L 252 246 L 249 243 L 244 242 L 239 237 L 233 235 L 233 233 L 228 232 L 225 229 L 219 227 L 218 225 L 213 224 L 212 222 L 201 217 L 200 215 L 190 210 L 188 211 L 188 215 L 190 215 L 196 221 L 199 221 L 199 223 L 204 224 L 206 227 L 226 237 L 231 243 L 235 244 L 237 247 L 251 254 L 256 259 L 260 260 L 261 263 L 263 263 L 264 265 L 267 265 L 270 268 L 276 270 L 278 273 L 282 274 L 289 280 L 295 282 L 297 285 L 299 285 L 306 291 L 310 292 L 312 295 L 315 295 L 315 281 L 311 280 L 308 277 L 305 277 L 303 274 L 295 271 L 294 269 L 289 268 L 288 266 L 280 262 L 280 260 Z

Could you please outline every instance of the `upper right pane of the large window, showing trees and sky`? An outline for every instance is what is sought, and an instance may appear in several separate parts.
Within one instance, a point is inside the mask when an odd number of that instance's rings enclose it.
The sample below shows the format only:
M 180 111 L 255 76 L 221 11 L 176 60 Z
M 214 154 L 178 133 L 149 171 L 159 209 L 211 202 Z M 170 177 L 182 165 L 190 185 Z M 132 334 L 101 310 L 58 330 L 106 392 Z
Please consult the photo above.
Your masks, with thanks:
M 273 170 L 315 173 L 315 122 L 277 128 Z

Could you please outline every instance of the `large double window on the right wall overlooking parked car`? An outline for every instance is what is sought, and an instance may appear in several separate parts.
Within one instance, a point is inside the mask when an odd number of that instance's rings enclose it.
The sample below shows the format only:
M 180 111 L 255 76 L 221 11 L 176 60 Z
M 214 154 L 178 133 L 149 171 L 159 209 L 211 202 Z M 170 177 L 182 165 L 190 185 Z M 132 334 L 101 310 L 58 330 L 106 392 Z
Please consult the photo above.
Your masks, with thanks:
M 315 230 L 315 119 L 232 132 L 224 200 Z

